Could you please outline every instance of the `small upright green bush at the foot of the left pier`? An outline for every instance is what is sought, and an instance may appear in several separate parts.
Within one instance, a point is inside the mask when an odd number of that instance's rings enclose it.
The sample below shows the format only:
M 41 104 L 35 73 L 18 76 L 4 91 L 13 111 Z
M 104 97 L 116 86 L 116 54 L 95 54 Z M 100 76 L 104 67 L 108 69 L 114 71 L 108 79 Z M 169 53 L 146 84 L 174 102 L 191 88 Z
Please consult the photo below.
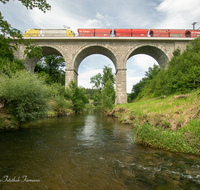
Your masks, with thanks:
M 65 92 L 66 99 L 72 101 L 75 113 L 81 112 L 85 108 L 85 104 L 88 102 L 85 89 L 83 87 L 78 87 L 76 82 L 71 81 Z

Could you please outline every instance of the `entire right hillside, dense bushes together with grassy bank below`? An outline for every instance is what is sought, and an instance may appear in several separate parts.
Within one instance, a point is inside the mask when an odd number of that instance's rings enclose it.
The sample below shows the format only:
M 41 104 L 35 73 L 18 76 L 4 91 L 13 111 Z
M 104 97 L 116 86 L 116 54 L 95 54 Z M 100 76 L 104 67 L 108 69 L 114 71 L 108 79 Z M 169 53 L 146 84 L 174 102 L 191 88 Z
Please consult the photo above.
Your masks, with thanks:
M 154 65 L 133 86 L 129 104 L 110 115 L 134 126 L 134 142 L 170 151 L 200 154 L 200 38 L 190 42 L 165 69 Z

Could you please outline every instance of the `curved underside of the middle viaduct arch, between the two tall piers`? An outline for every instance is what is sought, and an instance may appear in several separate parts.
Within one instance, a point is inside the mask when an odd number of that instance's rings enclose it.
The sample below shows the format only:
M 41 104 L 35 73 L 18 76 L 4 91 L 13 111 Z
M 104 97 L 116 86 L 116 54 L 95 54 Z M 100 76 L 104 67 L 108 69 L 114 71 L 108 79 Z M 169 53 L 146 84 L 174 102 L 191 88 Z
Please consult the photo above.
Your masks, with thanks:
M 78 68 L 83 59 L 93 54 L 101 54 L 108 57 L 114 64 L 115 69 L 117 68 L 117 59 L 111 48 L 102 45 L 92 44 L 81 47 L 76 55 L 74 56 L 74 70 L 78 73 Z

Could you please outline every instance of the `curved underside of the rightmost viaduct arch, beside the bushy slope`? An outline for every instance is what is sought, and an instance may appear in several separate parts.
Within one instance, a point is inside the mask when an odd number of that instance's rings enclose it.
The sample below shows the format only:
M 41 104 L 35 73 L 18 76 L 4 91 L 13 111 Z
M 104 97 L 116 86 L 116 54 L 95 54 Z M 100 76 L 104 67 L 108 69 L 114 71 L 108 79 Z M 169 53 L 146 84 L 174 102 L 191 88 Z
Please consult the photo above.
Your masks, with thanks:
M 161 68 L 167 65 L 170 57 L 166 50 L 162 47 L 153 45 L 140 45 L 133 48 L 127 53 L 126 62 L 129 58 L 137 54 L 146 54 L 153 57 L 158 62 Z

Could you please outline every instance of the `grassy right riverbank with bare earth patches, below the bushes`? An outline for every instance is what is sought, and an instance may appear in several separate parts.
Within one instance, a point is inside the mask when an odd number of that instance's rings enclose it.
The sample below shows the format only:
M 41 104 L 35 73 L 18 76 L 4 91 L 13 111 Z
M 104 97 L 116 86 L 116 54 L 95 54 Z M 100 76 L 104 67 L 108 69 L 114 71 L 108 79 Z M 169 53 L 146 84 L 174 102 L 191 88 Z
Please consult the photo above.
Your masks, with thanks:
M 108 115 L 132 124 L 138 144 L 200 154 L 199 90 L 160 98 L 116 105 Z

